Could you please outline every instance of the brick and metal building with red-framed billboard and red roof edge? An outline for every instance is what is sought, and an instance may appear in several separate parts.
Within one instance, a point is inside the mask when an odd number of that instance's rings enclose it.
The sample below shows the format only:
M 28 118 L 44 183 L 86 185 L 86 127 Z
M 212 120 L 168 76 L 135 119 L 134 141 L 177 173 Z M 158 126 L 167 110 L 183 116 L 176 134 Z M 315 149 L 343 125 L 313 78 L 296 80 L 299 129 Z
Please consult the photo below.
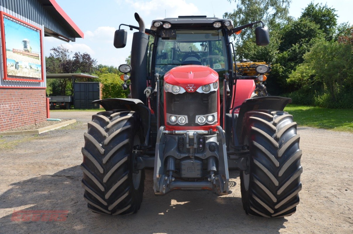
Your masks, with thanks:
M 0 131 L 47 119 L 44 36 L 83 32 L 55 0 L 0 0 Z

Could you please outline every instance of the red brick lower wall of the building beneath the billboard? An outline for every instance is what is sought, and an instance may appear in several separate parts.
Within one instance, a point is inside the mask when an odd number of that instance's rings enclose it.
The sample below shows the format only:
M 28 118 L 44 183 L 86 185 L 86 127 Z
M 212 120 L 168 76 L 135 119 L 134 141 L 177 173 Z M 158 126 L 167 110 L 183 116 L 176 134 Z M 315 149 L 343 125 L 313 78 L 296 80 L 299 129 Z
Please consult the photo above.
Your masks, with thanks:
M 0 131 L 44 121 L 46 108 L 45 89 L 0 88 Z

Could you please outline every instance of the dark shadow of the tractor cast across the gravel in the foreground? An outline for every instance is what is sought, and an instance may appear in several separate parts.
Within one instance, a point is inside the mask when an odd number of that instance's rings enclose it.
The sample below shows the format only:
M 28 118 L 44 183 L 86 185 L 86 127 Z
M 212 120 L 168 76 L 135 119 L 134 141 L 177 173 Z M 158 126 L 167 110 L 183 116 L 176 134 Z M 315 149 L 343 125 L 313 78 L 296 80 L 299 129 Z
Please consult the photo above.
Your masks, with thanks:
M 106 216 L 87 209 L 79 166 L 11 184 L 0 196 L 0 233 L 279 233 L 286 218 L 246 215 L 239 172 L 231 171 L 227 196 L 211 191 L 173 191 L 155 196 L 153 171 L 146 170 L 143 202 L 137 214 Z M 11 221 L 17 210 L 67 210 L 66 221 Z

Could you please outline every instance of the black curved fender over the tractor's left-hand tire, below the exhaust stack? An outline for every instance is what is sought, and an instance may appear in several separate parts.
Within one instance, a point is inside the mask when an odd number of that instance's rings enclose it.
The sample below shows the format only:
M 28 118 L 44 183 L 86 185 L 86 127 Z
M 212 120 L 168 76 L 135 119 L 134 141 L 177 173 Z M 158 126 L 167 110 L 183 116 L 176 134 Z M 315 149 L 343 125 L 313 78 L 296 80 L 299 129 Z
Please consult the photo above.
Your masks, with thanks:
M 143 104 L 139 99 L 134 98 L 107 98 L 96 100 L 92 103 L 100 104 L 105 110 L 125 109 L 138 112 L 142 119 L 143 134 L 145 137 L 145 146 L 149 145 L 150 127 L 151 127 L 151 110 Z

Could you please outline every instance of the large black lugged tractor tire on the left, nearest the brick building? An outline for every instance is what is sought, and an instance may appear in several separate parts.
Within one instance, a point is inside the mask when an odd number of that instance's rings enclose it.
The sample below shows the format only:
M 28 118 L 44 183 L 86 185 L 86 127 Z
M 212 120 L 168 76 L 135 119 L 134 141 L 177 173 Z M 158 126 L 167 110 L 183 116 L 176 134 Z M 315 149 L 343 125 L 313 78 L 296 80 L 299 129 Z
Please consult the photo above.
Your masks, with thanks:
M 133 173 L 134 145 L 143 142 L 137 112 L 100 112 L 88 122 L 82 148 L 82 186 L 88 209 L 106 215 L 126 215 L 140 209 L 144 170 Z

